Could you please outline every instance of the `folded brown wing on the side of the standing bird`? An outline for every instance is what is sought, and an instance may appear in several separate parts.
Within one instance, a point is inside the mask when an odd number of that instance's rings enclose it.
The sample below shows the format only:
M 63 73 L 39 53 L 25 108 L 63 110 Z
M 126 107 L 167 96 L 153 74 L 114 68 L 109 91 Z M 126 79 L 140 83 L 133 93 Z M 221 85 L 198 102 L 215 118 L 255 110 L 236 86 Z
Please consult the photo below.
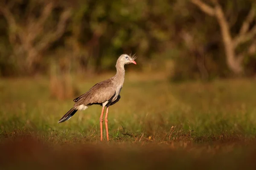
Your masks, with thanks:
M 89 105 L 93 103 L 104 103 L 108 100 L 111 100 L 115 96 L 116 91 L 113 88 L 113 82 L 108 79 L 103 82 L 99 82 L 90 88 L 85 94 L 82 94 L 78 98 L 74 99 L 76 104 L 79 105 Z

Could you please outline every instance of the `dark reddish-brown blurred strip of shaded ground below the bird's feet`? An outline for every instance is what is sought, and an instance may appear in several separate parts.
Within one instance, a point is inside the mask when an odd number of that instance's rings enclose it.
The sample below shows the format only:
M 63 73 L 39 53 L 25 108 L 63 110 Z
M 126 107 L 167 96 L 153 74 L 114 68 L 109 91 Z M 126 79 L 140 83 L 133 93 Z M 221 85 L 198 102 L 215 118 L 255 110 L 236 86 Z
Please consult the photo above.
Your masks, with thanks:
M 12 136 L 0 144 L 1 169 L 255 169 L 254 141 L 50 144 Z

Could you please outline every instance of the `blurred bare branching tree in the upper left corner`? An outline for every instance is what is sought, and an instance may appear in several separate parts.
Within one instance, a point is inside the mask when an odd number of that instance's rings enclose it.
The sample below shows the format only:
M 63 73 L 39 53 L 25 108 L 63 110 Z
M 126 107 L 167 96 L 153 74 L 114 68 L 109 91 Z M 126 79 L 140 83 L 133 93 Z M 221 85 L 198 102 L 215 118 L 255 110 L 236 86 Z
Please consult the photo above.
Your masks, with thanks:
M 53 0 L 1 1 L 0 12 L 8 23 L 9 42 L 17 64 L 29 74 L 35 71 L 49 45 L 64 34 L 71 10 L 64 8 L 56 22 L 51 14 L 57 7 Z

